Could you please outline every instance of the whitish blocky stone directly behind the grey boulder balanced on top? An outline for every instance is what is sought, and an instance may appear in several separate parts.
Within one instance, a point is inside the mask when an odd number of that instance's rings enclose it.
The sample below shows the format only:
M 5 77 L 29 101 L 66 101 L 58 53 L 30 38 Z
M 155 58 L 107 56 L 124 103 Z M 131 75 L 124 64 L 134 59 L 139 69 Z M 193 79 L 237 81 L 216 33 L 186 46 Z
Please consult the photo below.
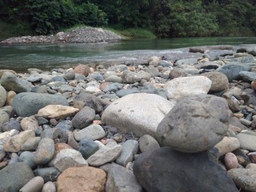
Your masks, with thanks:
M 174 78 L 166 82 L 167 97 L 169 99 L 181 99 L 198 94 L 207 94 L 210 90 L 212 82 L 210 78 L 204 76 L 192 76 Z

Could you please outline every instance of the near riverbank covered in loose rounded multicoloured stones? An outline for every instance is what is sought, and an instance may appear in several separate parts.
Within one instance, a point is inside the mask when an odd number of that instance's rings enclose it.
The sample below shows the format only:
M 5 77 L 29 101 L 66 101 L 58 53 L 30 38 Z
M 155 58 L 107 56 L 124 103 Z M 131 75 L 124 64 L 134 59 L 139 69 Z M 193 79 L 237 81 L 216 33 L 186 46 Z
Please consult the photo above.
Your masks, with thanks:
M 0 70 L 1 191 L 256 191 L 254 53 Z

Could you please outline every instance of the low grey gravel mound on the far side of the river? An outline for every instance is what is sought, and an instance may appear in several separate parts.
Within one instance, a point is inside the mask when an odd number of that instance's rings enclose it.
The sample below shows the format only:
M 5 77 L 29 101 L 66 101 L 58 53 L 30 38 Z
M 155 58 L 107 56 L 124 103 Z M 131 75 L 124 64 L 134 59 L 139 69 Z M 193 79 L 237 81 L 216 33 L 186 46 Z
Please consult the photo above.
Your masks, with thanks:
M 99 43 L 116 42 L 121 40 L 117 34 L 102 28 L 82 27 L 55 35 L 23 36 L 18 38 L 7 38 L 0 44 L 32 44 L 32 43 Z

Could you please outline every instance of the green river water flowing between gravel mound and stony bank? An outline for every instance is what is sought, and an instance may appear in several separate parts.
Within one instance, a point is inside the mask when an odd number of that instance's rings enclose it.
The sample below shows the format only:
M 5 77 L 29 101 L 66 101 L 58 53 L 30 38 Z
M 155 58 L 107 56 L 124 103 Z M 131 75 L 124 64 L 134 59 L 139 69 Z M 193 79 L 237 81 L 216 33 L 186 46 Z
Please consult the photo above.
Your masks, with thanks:
M 0 45 L 0 70 L 50 70 L 117 58 L 161 55 L 184 51 L 185 47 L 191 46 L 242 44 L 256 44 L 256 37 L 131 39 L 100 44 Z

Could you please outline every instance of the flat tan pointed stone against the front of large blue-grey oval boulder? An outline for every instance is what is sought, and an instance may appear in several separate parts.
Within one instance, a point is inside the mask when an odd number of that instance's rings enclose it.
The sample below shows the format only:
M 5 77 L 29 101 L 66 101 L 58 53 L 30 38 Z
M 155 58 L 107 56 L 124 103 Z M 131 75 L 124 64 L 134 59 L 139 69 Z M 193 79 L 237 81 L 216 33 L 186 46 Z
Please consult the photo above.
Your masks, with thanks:
M 38 110 L 38 115 L 44 118 L 66 118 L 72 117 L 79 110 L 72 106 L 62 106 L 62 105 L 49 105 Z

